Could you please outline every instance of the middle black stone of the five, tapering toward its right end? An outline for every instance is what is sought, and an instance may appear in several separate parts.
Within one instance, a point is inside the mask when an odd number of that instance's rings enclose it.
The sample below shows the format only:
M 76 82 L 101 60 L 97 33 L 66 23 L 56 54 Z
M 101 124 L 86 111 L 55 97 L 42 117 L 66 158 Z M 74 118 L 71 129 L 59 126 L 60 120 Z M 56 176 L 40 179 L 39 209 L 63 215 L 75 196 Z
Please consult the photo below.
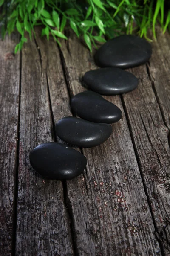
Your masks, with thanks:
M 71 108 L 79 117 L 91 122 L 111 124 L 122 117 L 122 111 L 116 105 L 92 91 L 75 95 L 71 100 Z

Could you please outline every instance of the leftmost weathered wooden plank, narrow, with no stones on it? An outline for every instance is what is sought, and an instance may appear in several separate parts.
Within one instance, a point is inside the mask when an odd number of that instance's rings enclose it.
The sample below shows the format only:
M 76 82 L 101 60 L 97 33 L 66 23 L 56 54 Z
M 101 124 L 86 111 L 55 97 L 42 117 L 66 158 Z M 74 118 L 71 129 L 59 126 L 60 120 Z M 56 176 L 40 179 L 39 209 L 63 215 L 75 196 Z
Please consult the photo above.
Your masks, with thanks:
M 18 37 L 0 40 L 0 255 L 11 255 L 20 55 L 14 56 Z

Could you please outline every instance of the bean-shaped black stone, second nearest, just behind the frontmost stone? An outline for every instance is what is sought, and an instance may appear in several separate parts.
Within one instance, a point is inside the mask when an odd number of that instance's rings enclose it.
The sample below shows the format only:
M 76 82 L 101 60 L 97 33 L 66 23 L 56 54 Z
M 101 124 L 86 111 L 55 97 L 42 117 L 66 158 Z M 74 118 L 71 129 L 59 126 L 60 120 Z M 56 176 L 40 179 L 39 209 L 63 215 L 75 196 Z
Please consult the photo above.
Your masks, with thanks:
M 57 122 L 56 133 L 67 143 L 79 147 L 95 147 L 108 140 L 112 133 L 112 126 L 68 116 Z

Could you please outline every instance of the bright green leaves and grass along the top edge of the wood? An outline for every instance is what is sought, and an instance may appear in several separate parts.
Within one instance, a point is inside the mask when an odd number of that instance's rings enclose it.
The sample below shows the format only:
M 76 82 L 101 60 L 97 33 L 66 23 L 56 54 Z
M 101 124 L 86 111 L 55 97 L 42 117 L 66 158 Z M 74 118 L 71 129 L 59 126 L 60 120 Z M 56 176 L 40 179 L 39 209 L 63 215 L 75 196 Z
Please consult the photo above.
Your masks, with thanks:
M 165 32 L 170 28 L 169 0 L 0 0 L 1 35 L 17 30 L 22 49 L 25 31 L 32 39 L 34 26 L 42 27 L 42 36 L 67 37 L 65 29 L 72 29 L 77 37 L 83 36 L 88 48 L 96 41 L 105 42 L 120 34 L 137 33 L 146 39 L 148 29 L 156 38 L 156 23 Z M 35 36 L 35 33 L 34 33 Z

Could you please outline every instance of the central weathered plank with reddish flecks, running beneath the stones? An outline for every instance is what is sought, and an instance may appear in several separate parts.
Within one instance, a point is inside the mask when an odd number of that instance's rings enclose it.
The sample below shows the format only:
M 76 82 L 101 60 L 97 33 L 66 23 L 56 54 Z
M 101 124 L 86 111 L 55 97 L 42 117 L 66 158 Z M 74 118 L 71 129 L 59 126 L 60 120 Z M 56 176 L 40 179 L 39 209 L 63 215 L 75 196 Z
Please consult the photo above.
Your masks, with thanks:
M 96 66 L 75 35 L 61 45 L 66 80 L 75 95 L 85 90 L 84 73 Z M 123 112 L 119 96 L 105 99 Z M 161 255 L 124 113 L 107 142 L 83 153 L 87 169 L 67 182 L 78 255 Z

